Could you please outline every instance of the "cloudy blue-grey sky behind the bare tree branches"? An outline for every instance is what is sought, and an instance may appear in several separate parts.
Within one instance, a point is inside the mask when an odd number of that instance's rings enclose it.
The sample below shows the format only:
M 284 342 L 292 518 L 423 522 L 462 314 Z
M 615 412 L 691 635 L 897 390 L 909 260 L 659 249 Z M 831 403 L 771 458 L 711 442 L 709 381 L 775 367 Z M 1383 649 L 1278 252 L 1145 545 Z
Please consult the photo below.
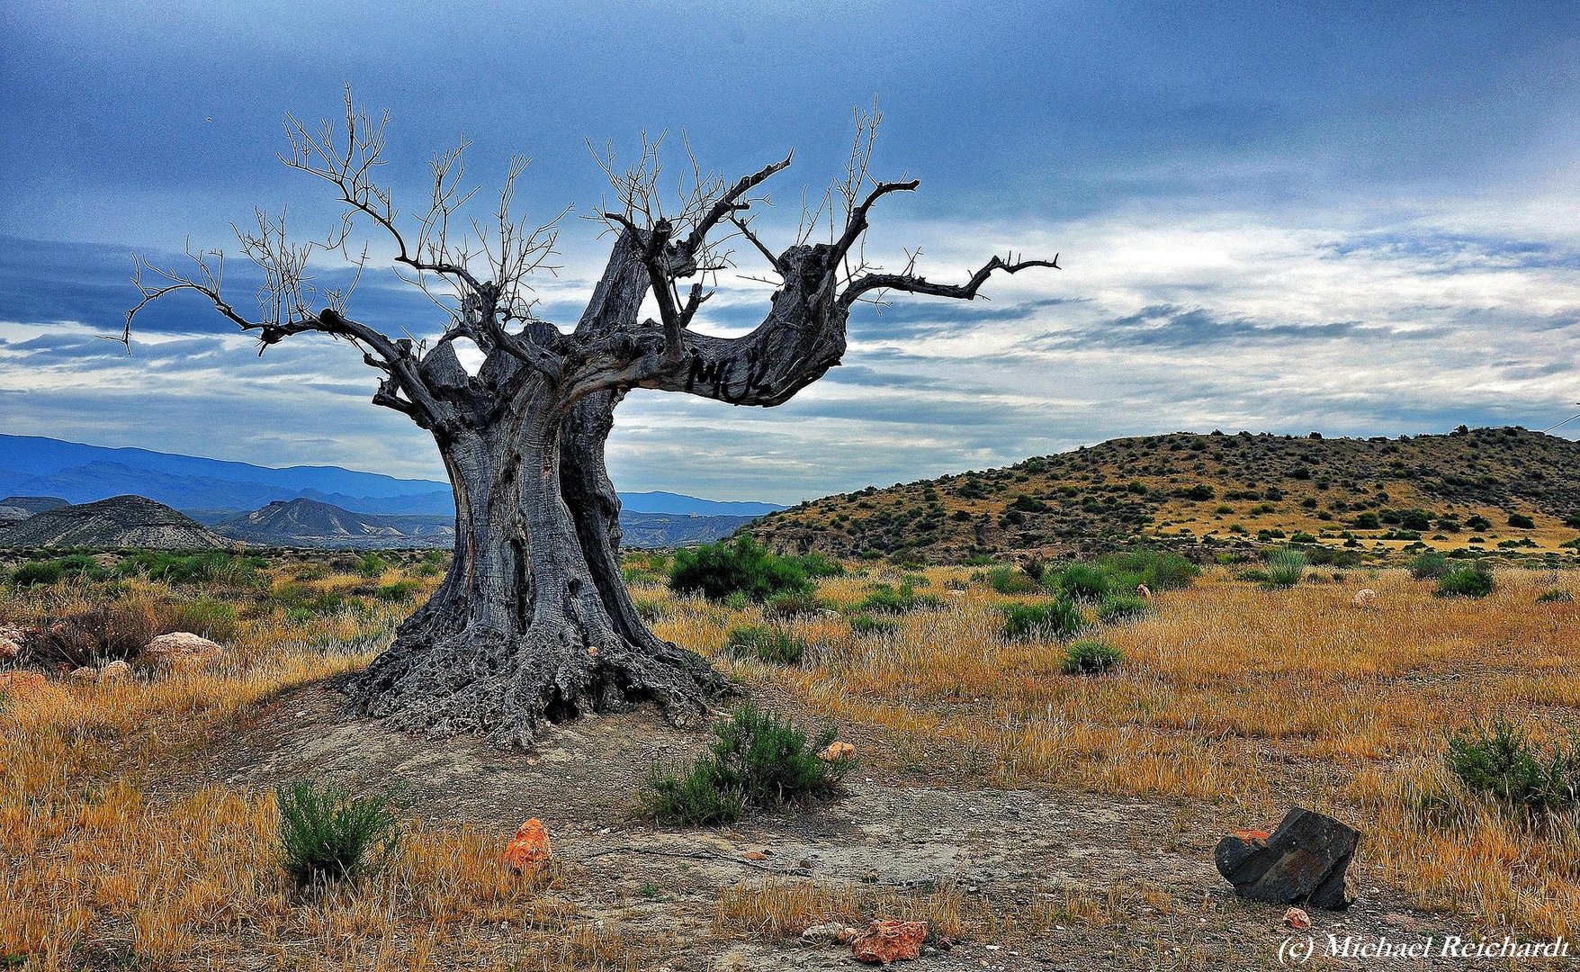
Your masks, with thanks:
M 133 253 L 224 247 L 254 205 L 330 226 L 275 153 L 284 112 L 332 115 L 346 82 L 390 111 L 381 177 L 408 209 L 461 133 L 483 186 L 532 156 L 518 204 L 575 207 L 539 281 L 556 321 L 607 245 L 577 218 L 604 188 L 588 141 L 629 158 L 684 133 L 732 175 L 795 147 L 762 223 L 788 229 L 874 98 L 875 169 L 923 183 L 885 201 L 874 254 L 920 247 L 934 280 L 1062 254 L 991 302 L 858 310 L 844 365 L 782 408 L 634 395 L 626 490 L 793 503 L 1119 435 L 1577 411 L 1580 6 L 913 6 L 0 0 L 0 428 L 442 477 L 344 345 L 259 357 L 198 300 L 141 321 L 131 357 L 98 338 L 134 302 Z M 736 333 L 766 294 L 722 284 L 706 327 Z M 439 324 L 382 277 L 352 311 Z

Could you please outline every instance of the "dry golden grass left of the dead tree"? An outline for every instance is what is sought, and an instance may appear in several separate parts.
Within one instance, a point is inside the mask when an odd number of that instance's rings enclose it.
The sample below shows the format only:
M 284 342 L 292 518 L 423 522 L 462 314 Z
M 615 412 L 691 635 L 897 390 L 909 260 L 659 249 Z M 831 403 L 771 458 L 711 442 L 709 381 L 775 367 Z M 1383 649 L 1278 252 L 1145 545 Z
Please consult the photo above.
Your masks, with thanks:
M 275 574 L 253 594 L 133 582 L 122 602 L 161 612 L 215 597 L 242 604 L 228 657 L 202 672 L 60 681 L 0 713 L 0 958 L 25 955 L 44 970 L 88 959 L 232 967 L 240 956 L 292 969 L 450 969 L 466 956 L 466 967 L 488 969 L 525 955 L 545 969 L 629 967 L 638 953 L 578 921 L 558 893 L 561 871 L 512 876 L 498 834 L 408 827 L 398 855 L 368 880 L 302 895 L 280 868 L 272 795 L 172 786 L 171 767 L 234 714 L 365 665 L 367 648 L 411 610 L 357 597 L 292 620 L 270 591 L 346 593 L 398 575 Z M 51 616 L 104 596 L 55 586 L 13 593 L 3 608 Z

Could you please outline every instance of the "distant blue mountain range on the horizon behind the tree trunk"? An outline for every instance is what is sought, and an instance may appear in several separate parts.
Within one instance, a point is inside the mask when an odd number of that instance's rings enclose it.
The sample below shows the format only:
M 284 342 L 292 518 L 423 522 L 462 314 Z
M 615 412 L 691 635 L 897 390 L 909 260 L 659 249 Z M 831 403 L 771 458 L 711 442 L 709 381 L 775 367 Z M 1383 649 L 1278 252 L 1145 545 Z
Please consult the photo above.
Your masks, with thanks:
M 273 469 L 149 449 L 106 449 L 41 436 L 0 435 L 0 496 L 92 503 L 134 493 L 179 510 L 251 510 L 276 499 L 318 499 L 363 514 L 453 512 L 450 487 L 338 466 Z M 621 493 L 632 512 L 758 517 L 782 506 L 719 503 L 679 493 Z

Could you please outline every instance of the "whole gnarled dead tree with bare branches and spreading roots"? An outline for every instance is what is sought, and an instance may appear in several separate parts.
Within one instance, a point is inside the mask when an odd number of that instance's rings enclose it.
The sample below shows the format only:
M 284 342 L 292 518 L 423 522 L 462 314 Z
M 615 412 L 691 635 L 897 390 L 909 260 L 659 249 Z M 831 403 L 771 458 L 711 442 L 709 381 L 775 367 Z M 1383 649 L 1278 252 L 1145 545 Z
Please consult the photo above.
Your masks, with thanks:
M 913 259 L 902 272 L 867 266 L 861 253 L 874 204 L 916 188 L 867 174 L 875 117 L 858 119 L 848 171 L 777 253 L 750 226 L 750 210 L 788 156 L 735 182 L 692 163 L 665 212 L 657 147 L 645 141 L 629 169 L 599 160 L 618 199 L 594 217 L 611 232 L 611 253 L 581 318 L 561 327 L 537 318 L 529 289 L 553 253 L 558 220 L 534 228 L 510 212 L 525 163 L 512 164 L 487 228 L 468 221 L 460 231 L 457 213 L 471 194 L 460 149 L 433 161 L 427 210 L 403 217 L 374 180 L 386 120 L 356 111 L 349 95 L 343 123 L 310 128 L 288 119 L 291 152 L 281 158 L 322 179 L 344 220 L 330 239 L 307 243 L 288 239 L 283 218 L 259 215 L 256 229 L 237 231 L 242 253 L 264 275 L 256 316 L 231 303 L 220 253 L 191 253 L 196 269 L 188 270 L 139 261 L 142 300 L 123 337 L 150 302 L 196 291 L 262 348 L 308 332 L 356 346 L 381 373 L 373 403 L 433 435 L 455 490 L 453 558 L 354 691 L 363 711 L 398 729 L 528 744 L 544 721 L 641 700 L 678 724 L 705 714 L 719 678 L 648 629 L 619 574 L 619 499 L 604 443 L 621 397 L 659 389 L 781 405 L 839 364 L 858 302 L 893 291 L 969 300 L 994 270 L 1057 267 L 1057 258 L 994 258 L 964 283 L 942 284 L 918 277 Z M 444 308 L 431 343 L 392 338 L 390 327 L 357 319 L 351 288 L 313 284 L 310 262 L 329 253 L 360 275 L 368 250 L 351 256 L 348 248 L 359 220 L 386 237 L 393 269 Z M 724 239 L 749 242 L 777 288 L 762 324 L 733 338 L 697 329 L 709 281 L 730 266 Z M 640 313 L 649 296 L 656 321 Z M 457 357 L 461 338 L 483 354 L 474 373 Z

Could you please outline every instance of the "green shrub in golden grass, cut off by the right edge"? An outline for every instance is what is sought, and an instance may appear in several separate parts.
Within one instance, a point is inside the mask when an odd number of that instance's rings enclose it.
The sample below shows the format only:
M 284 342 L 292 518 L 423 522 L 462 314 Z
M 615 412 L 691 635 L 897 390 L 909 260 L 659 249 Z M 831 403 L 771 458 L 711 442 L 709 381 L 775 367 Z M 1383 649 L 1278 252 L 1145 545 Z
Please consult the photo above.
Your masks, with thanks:
M 1444 762 L 1466 790 L 1525 811 L 1567 809 L 1580 801 L 1580 740 L 1544 748 L 1504 719 L 1471 722 L 1449 735 Z

